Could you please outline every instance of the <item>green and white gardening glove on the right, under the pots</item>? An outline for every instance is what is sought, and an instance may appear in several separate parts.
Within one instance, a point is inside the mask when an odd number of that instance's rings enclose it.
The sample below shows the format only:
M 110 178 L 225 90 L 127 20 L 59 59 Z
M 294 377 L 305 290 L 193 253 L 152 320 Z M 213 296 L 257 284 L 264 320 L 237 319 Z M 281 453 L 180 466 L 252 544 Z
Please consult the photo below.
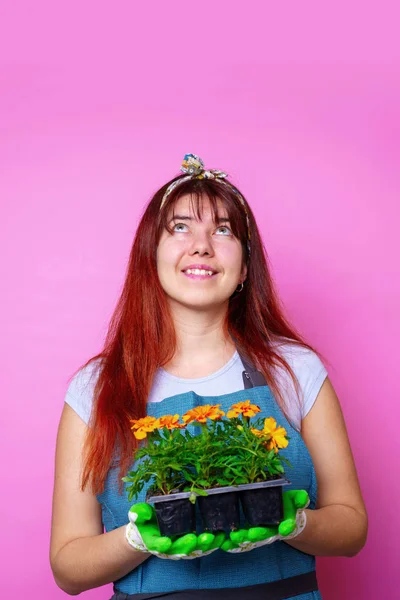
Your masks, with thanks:
M 283 492 L 283 521 L 272 527 L 250 527 L 231 531 L 230 539 L 222 543 L 225 552 L 249 552 L 277 540 L 289 540 L 299 535 L 306 526 L 305 508 L 310 499 L 305 490 Z

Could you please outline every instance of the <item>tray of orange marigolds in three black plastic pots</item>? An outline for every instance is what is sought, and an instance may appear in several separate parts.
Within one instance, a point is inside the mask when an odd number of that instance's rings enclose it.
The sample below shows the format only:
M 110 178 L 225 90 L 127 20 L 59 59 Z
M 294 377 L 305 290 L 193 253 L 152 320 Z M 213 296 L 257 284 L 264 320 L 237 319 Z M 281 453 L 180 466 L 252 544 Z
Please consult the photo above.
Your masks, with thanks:
M 283 516 L 282 463 L 278 451 L 288 444 L 286 431 L 270 417 L 250 419 L 260 408 L 249 400 L 225 413 L 203 405 L 179 415 L 132 421 L 144 445 L 135 453 L 135 470 L 123 480 L 129 499 L 149 483 L 162 535 L 183 535 L 196 528 L 199 504 L 205 531 L 240 527 L 239 499 L 249 525 L 272 525 Z M 254 512 L 255 508 L 255 512 Z

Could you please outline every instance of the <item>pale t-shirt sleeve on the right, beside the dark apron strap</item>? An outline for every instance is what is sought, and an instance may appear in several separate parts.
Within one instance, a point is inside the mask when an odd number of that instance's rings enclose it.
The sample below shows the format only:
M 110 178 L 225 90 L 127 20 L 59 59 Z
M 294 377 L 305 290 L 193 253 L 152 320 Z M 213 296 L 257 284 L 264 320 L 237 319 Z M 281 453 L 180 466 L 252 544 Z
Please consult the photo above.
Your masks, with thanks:
M 328 372 L 319 356 L 308 348 L 295 344 L 286 344 L 281 347 L 280 352 L 293 369 L 299 382 L 301 391 L 300 412 L 297 411 L 297 414 L 295 414 L 296 411 L 293 409 L 293 417 L 300 430 L 301 420 L 312 409 L 321 386 L 328 376 Z M 286 370 L 285 372 L 280 372 L 279 381 L 287 398 L 287 405 L 293 407 L 299 406 L 296 388 L 290 374 Z

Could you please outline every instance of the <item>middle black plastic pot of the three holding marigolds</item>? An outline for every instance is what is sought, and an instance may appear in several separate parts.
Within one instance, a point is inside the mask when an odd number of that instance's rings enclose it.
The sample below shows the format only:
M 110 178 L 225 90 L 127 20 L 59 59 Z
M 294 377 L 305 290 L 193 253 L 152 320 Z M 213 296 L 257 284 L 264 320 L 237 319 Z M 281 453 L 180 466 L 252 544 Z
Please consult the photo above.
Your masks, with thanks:
M 207 496 L 197 498 L 204 531 L 235 531 L 240 526 L 239 494 L 236 491 L 218 492 L 214 488 L 207 490 Z

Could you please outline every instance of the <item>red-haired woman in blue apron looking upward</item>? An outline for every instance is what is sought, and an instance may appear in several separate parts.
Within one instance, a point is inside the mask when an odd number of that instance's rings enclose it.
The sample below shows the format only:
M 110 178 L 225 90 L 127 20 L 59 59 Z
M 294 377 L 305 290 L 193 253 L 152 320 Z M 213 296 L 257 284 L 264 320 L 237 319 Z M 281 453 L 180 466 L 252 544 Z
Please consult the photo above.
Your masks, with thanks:
M 116 582 L 118 599 L 315 600 L 315 556 L 354 556 L 367 532 L 340 405 L 317 353 L 283 316 L 243 195 L 195 155 L 181 170 L 147 206 L 105 347 L 66 395 L 54 578 L 69 594 Z M 129 543 L 120 485 L 135 444 L 129 419 L 182 414 L 194 397 L 224 409 L 249 395 L 291 438 L 292 488 L 310 497 L 302 527 L 251 552 L 228 543 L 194 560 L 160 560 Z

